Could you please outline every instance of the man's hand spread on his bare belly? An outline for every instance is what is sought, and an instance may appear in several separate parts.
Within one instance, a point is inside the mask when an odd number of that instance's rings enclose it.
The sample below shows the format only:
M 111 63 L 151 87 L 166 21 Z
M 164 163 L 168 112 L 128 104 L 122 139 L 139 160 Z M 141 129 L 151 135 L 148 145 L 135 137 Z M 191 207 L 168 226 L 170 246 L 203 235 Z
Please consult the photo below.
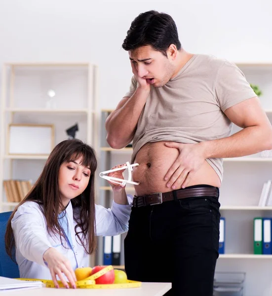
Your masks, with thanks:
M 204 150 L 199 144 L 182 144 L 176 142 L 165 143 L 169 148 L 177 148 L 180 151 L 178 158 L 164 177 L 167 187 L 173 189 L 185 188 L 189 185 L 194 173 L 205 161 Z

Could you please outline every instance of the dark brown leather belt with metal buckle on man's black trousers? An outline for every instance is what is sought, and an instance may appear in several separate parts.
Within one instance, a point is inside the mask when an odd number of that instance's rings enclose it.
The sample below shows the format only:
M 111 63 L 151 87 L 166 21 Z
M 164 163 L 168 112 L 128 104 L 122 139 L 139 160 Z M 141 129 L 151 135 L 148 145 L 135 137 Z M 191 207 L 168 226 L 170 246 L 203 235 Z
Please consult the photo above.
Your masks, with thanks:
M 144 196 L 136 196 L 133 198 L 133 207 L 143 207 L 150 205 L 158 205 L 164 201 L 182 199 L 187 197 L 198 197 L 198 196 L 211 196 L 218 197 L 219 192 L 216 187 L 197 187 L 197 188 L 185 188 L 178 189 L 169 192 L 156 192 Z

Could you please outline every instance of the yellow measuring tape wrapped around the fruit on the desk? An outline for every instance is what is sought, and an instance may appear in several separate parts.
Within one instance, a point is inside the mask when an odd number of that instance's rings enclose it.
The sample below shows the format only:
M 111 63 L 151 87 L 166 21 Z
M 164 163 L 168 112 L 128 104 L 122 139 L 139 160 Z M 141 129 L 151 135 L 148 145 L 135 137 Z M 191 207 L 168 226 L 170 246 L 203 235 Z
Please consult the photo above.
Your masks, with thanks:
M 98 272 L 94 273 L 93 275 L 87 277 L 84 280 L 77 281 L 76 286 L 77 288 L 81 289 L 124 289 L 124 288 L 139 288 L 142 286 L 141 282 L 127 280 L 125 283 L 122 284 L 96 284 L 95 280 L 100 276 L 104 275 L 108 271 L 114 269 L 112 265 L 109 265 Z M 46 288 L 55 288 L 54 282 L 50 280 L 41 280 L 41 279 L 18 279 L 22 281 L 40 281 L 45 284 Z M 68 282 L 70 285 L 70 283 Z M 61 281 L 58 281 L 58 285 L 60 288 L 64 288 L 64 285 Z M 71 285 L 70 285 L 71 287 Z

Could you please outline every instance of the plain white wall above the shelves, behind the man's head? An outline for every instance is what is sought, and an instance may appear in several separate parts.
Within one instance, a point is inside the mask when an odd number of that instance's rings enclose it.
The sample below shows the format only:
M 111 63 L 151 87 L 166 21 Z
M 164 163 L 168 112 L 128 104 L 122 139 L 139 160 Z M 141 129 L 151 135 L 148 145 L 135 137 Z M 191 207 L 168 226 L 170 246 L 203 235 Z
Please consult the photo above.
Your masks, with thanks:
M 131 78 L 121 44 L 140 12 L 172 15 L 190 52 L 272 61 L 270 6 L 269 0 L 0 0 L 0 64 L 91 61 L 100 69 L 100 107 L 115 108 Z

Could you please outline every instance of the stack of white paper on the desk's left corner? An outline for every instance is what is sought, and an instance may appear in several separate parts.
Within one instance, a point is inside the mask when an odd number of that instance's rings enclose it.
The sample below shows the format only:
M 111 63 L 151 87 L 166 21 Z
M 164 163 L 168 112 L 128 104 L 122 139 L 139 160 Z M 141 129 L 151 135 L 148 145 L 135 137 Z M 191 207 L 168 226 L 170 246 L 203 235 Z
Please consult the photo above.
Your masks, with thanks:
M 0 276 L 0 293 L 17 290 L 37 289 L 42 287 L 39 281 L 21 281 Z

